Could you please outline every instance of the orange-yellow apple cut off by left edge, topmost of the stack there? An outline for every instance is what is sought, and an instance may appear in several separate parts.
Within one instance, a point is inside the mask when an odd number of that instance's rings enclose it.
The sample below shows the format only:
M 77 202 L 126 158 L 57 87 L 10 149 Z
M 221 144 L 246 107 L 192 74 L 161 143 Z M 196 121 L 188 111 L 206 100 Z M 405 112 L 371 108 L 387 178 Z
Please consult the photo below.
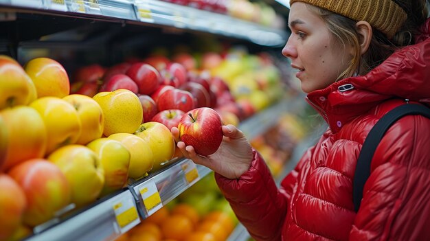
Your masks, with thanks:
M 14 59 L 0 55 L 0 109 L 36 100 L 36 87 Z

